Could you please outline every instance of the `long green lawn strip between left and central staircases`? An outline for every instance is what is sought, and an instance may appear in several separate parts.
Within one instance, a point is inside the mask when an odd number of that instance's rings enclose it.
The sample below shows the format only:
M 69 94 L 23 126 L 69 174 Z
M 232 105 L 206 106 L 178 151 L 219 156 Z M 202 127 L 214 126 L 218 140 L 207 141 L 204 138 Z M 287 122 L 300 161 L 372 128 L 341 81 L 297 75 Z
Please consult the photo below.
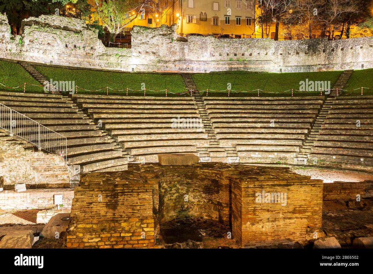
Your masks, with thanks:
M 36 69 L 43 74 L 47 79 L 53 81 L 74 81 L 75 85 L 88 90 L 104 90 L 98 92 L 87 92 L 78 89 L 78 94 L 106 94 L 106 87 L 112 89 L 123 90 L 141 90 L 142 83 L 145 84 L 145 89 L 150 90 L 170 90 L 173 93 L 185 92 L 185 83 L 179 74 L 157 74 L 157 73 L 125 73 L 125 72 L 109 72 L 96 70 L 81 70 L 58 68 L 48 66 L 36 66 Z M 126 91 L 117 92 L 109 89 L 109 95 L 126 95 Z M 165 96 L 166 92 L 151 92 L 146 91 L 146 95 Z M 144 95 L 144 92 L 129 91 L 128 95 Z M 167 93 L 167 96 L 173 96 Z

